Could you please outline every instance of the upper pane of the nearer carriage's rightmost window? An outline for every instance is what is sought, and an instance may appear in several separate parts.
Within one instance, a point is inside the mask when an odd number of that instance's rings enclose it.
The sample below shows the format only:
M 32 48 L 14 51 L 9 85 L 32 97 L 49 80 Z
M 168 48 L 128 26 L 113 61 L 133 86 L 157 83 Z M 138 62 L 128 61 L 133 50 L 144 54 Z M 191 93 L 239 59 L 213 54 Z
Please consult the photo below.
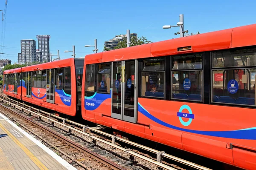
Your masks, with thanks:
M 212 53 L 212 67 L 256 66 L 256 49 L 241 49 Z

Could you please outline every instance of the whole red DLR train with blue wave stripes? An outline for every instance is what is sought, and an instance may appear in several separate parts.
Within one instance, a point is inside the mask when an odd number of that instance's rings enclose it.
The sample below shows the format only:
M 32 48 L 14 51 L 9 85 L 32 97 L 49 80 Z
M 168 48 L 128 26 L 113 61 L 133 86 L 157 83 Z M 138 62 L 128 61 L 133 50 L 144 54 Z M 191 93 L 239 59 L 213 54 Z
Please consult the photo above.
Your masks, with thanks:
M 63 104 L 59 92 L 52 97 L 58 100 L 52 101 L 49 88 L 41 86 L 32 90 L 33 94 L 46 90 L 49 98 L 29 98 L 23 84 L 15 89 L 9 85 L 14 84 L 12 80 L 6 81 L 14 73 L 21 72 L 24 80 L 23 72 L 42 69 L 53 69 L 56 75 L 56 70 L 69 66 L 64 63 L 5 71 L 5 93 L 68 115 L 76 115 L 71 110 L 79 110 L 74 107 L 79 108 L 82 98 L 81 115 L 87 121 L 253 170 L 256 35 L 251 32 L 255 30 L 253 24 L 87 55 L 80 72 L 83 79 L 78 78 L 74 59 L 69 59 L 70 112 L 69 106 L 58 107 Z M 49 80 L 51 70 L 46 73 Z M 57 91 L 55 80 L 52 86 Z M 29 84 L 28 78 L 24 81 Z M 20 86 L 23 89 L 19 90 Z M 17 94 L 12 94 L 13 89 Z M 62 89 L 66 93 L 64 85 Z M 80 89 L 81 98 L 76 96 Z

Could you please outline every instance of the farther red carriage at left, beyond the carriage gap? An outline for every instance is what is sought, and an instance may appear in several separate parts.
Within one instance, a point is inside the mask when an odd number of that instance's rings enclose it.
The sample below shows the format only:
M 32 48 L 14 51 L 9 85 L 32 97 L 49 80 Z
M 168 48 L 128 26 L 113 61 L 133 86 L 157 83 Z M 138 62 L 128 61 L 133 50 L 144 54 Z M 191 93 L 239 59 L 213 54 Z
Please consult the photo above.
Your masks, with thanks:
M 18 88 L 18 94 L 12 95 L 10 90 L 6 95 L 41 107 L 55 110 L 66 115 L 75 116 L 81 111 L 81 79 L 84 59 L 64 59 L 49 63 L 26 66 L 19 68 L 20 84 L 15 84 L 16 79 L 12 72 L 4 72 L 6 80 L 11 81 L 9 88 Z M 5 84 L 6 85 L 6 84 Z M 80 87 L 80 88 L 78 88 Z M 21 90 L 22 88 L 22 90 Z

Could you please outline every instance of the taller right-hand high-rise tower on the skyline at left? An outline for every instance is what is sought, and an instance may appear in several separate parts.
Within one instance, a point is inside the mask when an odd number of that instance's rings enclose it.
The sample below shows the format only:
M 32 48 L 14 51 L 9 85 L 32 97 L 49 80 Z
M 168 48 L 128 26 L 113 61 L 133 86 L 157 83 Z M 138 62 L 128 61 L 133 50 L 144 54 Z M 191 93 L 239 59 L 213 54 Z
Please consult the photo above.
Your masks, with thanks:
M 50 45 L 49 40 L 51 36 L 49 35 L 37 35 L 38 39 L 38 50 L 39 52 L 42 52 L 42 56 L 44 61 L 49 62 L 50 61 Z

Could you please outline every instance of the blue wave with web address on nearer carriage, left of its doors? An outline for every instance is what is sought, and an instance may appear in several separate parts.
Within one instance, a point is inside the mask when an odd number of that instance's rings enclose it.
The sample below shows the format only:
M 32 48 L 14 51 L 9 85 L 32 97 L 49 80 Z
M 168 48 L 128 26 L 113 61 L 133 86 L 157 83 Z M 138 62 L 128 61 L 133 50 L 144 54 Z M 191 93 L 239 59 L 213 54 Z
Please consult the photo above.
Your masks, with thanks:
M 111 98 L 110 94 L 102 94 L 95 92 L 93 96 L 84 97 L 84 108 L 86 110 L 95 110 L 102 104 L 106 99 Z

